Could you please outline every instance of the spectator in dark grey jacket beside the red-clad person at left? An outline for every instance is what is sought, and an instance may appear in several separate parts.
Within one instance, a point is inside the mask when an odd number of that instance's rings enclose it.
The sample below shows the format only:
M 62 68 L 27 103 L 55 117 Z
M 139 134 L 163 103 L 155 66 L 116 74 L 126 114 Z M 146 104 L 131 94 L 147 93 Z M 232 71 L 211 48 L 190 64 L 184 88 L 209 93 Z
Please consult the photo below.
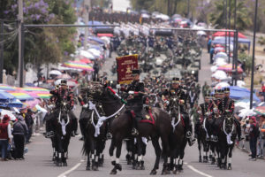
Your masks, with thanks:
M 13 136 L 15 142 L 15 158 L 24 159 L 25 137 L 28 134 L 27 124 L 22 116 L 13 125 Z

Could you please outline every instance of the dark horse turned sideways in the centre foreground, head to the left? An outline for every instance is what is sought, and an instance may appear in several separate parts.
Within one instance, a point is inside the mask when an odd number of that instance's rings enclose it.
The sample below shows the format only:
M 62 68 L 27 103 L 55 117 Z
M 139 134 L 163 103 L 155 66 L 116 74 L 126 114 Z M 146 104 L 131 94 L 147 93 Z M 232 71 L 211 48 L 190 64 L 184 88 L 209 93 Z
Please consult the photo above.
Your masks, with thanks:
M 121 171 L 122 166 L 119 163 L 119 158 L 121 155 L 122 142 L 126 137 L 131 137 L 131 130 L 133 125 L 133 116 L 131 112 L 126 110 L 125 106 L 121 102 L 121 99 L 113 94 L 113 92 L 100 84 L 94 86 L 94 89 L 91 89 L 91 96 L 95 101 L 102 103 L 102 109 L 105 112 L 105 115 L 108 117 L 113 115 L 110 118 L 110 133 L 112 134 L 112 140 L 110 144 L 110 157 L 111 164 L 114 165 L 114 168 L 111 170 L 110 174 L 116 174 L 117 170 Z M 138 130 L 139 135 L 136 137 L 138 142 L 138 155 L 141 155 L 141 137 L 151 138 L 152 144 L 155 148 L 155 165 L 150 174 L 156 174 L 156 170 L 159 167 L 160 157 L 162 152 L 164 154 L 164 163 L 163 163 L 163 174 L 168 173 L 168 157 L 170 157 L 170 144 L 169 138 L 172 133 L 172 127 L 170 122 L 170 115 L 167 112 L 164 112 L 159 108 L 152 108 L 151 113 L 155 120 L 154 125 L 148 122 L 139 122 Z M 163 151 L 160 148 L 159 138 L 161 138 L 163 143 Z M 113 152 L 116 150 L 116 160 L 113 158 Z M 141 158 L 141 156 L 140 156 Z

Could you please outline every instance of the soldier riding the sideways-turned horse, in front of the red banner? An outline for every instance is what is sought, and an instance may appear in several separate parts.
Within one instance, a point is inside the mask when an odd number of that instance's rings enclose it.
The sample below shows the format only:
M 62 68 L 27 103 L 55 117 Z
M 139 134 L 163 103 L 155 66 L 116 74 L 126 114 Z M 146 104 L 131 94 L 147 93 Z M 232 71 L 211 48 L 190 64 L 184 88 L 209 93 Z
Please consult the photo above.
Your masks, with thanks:
M 128 86 L 127 89 L 122 89 L 127 92 L 130 96 L 127 98 L 128 109 L 131 110 L 133 116 L 133 129 L 132 135 L 139 135 L 138 132 L 138 121 L 142 119 L 142 108 L 143 108 L 143 96 L 144 96 L 144 83 L 140 81 L 140 70 L 133 70 L 133 82 Z

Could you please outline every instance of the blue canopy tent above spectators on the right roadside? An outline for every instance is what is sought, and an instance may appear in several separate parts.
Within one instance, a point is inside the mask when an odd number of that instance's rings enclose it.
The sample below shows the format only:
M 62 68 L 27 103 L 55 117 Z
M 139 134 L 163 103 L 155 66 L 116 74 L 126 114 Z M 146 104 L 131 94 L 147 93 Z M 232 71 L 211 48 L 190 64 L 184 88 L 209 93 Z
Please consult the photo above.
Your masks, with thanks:
M 230 88 L 230 97 L 232 99 L 243 99 L 250 97 L 250 90 L 246 88 L 240 88 L 238 86 L 231 86 Z M 253 93 L 254 101 L 261 102 L 261 100 Z

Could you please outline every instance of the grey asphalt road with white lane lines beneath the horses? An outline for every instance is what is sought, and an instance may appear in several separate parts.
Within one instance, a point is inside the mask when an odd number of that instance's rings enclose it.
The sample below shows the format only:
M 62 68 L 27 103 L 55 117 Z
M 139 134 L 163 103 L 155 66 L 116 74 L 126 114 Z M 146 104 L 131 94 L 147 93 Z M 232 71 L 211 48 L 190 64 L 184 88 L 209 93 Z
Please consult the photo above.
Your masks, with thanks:
M 112 61 L 111 61 L 112 60 Z M 114 58 L 110 59 L 104 69 L 110 69 L 110 63 L 114 61 Z M 200 82 L 201 85 L 204 81 L 209 81 L 210 71 L 208 65 L 208 54 L 203 52 L 201 59 L 201 72 Z M 75 111 L 79 115 L 79 107 Z M 27 145 L 28 153 L 25 155 L 25 160 L 11 160 L 8 162 L 0 162 L 0 177 L 106 177 L 110 176 L 110 156 L 108 154 L 108 148 L 110 142 L 107 142 L 107 148 L 104 150 L 105 163 L 103 167 L 99 168 L 99 171 L 86 171 L 86 158 L 82 156 L 82 142 L 79 141 L 79 137 L 71 139 L 69 147 L 68 166 L 57 167 L 51 161 L 51 143 L 49 139 L 45 139 L 42 135 L 35 135 L 32 142 Z M 123 147 L 125 148 L 125 146 Z M 123 171 L 118 172 L 117 176 L 149 176 L 149 173 L 155 163 L 155 151 L 152 144 L 148 143 L 147 155 L 144 157 L 146 170 L 137 171 L 133 170 L 132 166 L 125 164 L 125 149 L 122 150 L 121 165 L 123 165 Z M 232 170 L 220 170 L 216 165 L 210 165 L 206 163 L 199 163 L 199 154 L 197 145 L 186 148 L 184 173 L 177 174 L 178 176 L 206 176 L 206 177 L 258 177 L 264 176 L 264 161 L 257 160 L 255 162 L 248 161 L 248 155 L 237 148 L 233 150 L 232 158 Z M 158 170 L 158 174 L 161 174 L 162 164 Z M 176 174 L 175 174 L 176 175 Z M 173 176 L 170 174 L 168 176 Z

